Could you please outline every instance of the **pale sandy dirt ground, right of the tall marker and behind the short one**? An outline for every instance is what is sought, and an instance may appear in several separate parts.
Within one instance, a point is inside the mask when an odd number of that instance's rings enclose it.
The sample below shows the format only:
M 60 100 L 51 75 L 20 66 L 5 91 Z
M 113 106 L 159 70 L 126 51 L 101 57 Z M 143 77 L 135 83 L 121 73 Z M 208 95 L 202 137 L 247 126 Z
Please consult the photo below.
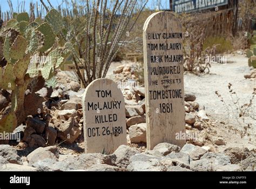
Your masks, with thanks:
M 256 120 L 249 117 L 240 117 L 239 106 L 249 103 L 253 96 L 253 89 L 256 87 L 256 79 L 245 79 L 244 75 L 251 72 L 248 67 L 248 60 L 244 55 L 226 55 L 227 63 L 212 63 L 210 74 L 194 75 L 193 73 L 184 74 L 185 93 L 196 95 L 196 102 L 200 108 L 205 109 L 207 116 L 211 118 L 206 129 L 208 138 L 221 137 L 226 141 L 226 145 L 217 146 L 212 141 L 207 140 L 205 145 L 213 146 L 216 151 L 224 151 L 227 147 L 248 147 L 256 150 Z M 114 79 L 113 70 L 124 63 L 132 64 L 130 61 L 112 63 L 107 74 L 108 78 Z M 236 95 L 231 98 L 228 84 L 231 83 Z M 226 105 L 221 102 L 215 94 L 218 91 L 223 97 Z M 252 102 L 250 114 L 256 117 L 256 98 Z M 227 108 L 229 111 L 227 111 Z M 248 127 L 248 124 L 249 127 Z M 244 135 L 241 137 L 241 133 Z M 200 134 L 200 133 L 199 133 Z M 205 131 L 201 132 L 205 134 Z

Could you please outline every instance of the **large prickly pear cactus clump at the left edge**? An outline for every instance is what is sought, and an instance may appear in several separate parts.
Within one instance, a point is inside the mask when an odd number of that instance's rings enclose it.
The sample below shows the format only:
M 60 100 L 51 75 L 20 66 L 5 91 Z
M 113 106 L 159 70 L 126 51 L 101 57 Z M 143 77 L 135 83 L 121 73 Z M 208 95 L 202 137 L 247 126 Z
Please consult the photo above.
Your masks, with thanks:
M 0 44 L 3 54 L 0 68 L 0 89 L 11 93 L 11 108 L 5 111 L 0 120 L 0 132 L 12 132 L 17 125 L 24 122 L 28 114 L 24 107 L 25 91 L 36 92 L 46 85 L 56 84 L 56 69 L 64 62 L 69 54 L 66 46 L 58 48 L 57 36 L 62 17 L 52 9 L 45 16 L 45 22 L 29 23 L 26 12 L 15 14 L 1 30 Z M 35 56 L 48 56 L 42 64 L 33 60 Z M 38 80 L 43 84 L 38 86 Z M 32 102 L 31 102 L 32 103 Z M 39 113 L 39 112 L 38 112 Z

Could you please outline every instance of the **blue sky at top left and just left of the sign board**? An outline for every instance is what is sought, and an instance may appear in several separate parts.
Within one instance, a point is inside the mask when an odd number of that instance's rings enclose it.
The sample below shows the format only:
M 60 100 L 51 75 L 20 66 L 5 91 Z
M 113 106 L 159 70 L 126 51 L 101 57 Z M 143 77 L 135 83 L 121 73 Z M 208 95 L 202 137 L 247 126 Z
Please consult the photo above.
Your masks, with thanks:
M 68 0 L 70 1 L 70 0 Z M 2 8 L 2 12 L 5 12 L 6 10 L 9 10 L 9 5 L 8 5 L 8 2 L 7 0 L 0 0 L 1 2 L 1 8 Z M 24 0 L 12 0 L 12 5 L 14 6 L 14 10 L 16 11 L 17 9 L 17 5 L 18 5 L 18 2 L 21 3 L 21 2 L 24 2 Z M 38 2 L 38 4 L 41 4 L 39 0 L 25 0 L 25 8 L 26 10 L 29 9 L 29 3 L 30 2 Z M 47 3 L 47 0 L 44 0 L 45 4 L 48 4 Z M 58 6 L 62 0 L 50 0 L 52 6 L 56 7 Z M 169 9 L 169 0 L 149 0 L 149 2 L 147 3 L 147 8 L 149 9 L 156 9 L 156 6 L 158 4 L 158 2 L 161 3 L 161 6 L 163 6 L 163 8 L 166 8 Z

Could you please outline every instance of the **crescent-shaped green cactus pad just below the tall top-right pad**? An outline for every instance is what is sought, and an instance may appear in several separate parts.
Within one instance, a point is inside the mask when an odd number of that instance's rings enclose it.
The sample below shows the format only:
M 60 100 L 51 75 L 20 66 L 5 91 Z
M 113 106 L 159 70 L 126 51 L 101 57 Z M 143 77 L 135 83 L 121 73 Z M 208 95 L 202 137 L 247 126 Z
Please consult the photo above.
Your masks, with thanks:
M 49 50 L 55 43 L 55 35 L 52 32 L 51 26 L 48 23 L 43 23 L 37 28 L 44 35 L 44 46 L 39 50 L 45 52 Z

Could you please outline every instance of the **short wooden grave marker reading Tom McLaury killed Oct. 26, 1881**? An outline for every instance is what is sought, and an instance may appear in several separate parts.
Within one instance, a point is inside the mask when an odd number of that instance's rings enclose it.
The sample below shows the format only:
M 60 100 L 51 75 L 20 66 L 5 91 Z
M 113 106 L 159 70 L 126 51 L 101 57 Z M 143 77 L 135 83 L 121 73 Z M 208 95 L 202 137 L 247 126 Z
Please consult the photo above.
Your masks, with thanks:
M 124 97 L 111 79 L 96 79 L 83 95 L 85 153 L 112 153 L 127 144 Z

